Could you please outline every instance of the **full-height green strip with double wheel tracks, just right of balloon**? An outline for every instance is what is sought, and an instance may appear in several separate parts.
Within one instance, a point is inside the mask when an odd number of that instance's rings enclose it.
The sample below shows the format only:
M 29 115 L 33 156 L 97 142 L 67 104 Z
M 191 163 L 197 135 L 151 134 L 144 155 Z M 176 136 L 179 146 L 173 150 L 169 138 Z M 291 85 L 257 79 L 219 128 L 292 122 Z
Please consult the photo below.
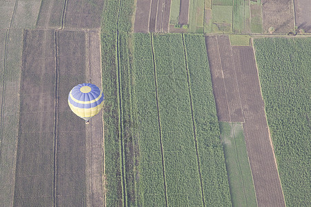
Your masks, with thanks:
M 105 206 L 135 206 L 129 17 L 133 1 L 105 1 L 102 21 Z M 117 18 L 111 18 L 117 14 Z

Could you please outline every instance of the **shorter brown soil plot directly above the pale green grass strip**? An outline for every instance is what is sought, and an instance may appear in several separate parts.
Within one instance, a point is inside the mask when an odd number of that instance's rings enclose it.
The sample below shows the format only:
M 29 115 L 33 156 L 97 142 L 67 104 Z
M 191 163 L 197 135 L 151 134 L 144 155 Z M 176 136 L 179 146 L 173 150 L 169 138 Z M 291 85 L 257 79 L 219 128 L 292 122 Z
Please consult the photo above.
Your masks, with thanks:
M 207 36 L 207 54 L 219 121 L 244 121 L 229 36 Z

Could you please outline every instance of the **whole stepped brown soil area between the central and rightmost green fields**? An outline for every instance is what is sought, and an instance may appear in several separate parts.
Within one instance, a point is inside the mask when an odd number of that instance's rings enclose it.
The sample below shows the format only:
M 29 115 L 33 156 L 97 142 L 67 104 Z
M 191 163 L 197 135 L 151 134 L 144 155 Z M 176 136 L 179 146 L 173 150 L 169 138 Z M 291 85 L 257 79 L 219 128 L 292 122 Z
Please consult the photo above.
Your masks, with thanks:
M 245 142 L 258 206 L 285 206 L 254 50 L 249 46 L 232 47 L 229 37 L 220 35 L 206 36 L 206 44 L 218 120 L 245 120 Z

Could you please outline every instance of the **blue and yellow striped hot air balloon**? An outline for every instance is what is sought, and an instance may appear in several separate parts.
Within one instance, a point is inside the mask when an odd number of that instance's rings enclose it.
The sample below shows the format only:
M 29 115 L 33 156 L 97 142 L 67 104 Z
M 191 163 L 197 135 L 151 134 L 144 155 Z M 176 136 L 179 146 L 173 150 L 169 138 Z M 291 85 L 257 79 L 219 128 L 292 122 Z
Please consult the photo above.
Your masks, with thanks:
M 70 90 L 68 105 L 78 116 L 89 123 L 91 117 L 97 115 L 104 104 L 104 95 L 100 88 L 91 83 L 82 83 Z

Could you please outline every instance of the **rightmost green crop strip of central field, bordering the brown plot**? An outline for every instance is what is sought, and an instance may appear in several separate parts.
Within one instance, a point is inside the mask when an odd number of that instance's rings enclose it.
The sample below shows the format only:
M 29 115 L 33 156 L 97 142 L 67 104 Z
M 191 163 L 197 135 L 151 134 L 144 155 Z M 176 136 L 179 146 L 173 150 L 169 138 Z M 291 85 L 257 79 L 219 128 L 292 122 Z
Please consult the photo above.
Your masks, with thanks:
M 231 206 L 205 37 L 185 34 L 198 157 L 206 206 Z

